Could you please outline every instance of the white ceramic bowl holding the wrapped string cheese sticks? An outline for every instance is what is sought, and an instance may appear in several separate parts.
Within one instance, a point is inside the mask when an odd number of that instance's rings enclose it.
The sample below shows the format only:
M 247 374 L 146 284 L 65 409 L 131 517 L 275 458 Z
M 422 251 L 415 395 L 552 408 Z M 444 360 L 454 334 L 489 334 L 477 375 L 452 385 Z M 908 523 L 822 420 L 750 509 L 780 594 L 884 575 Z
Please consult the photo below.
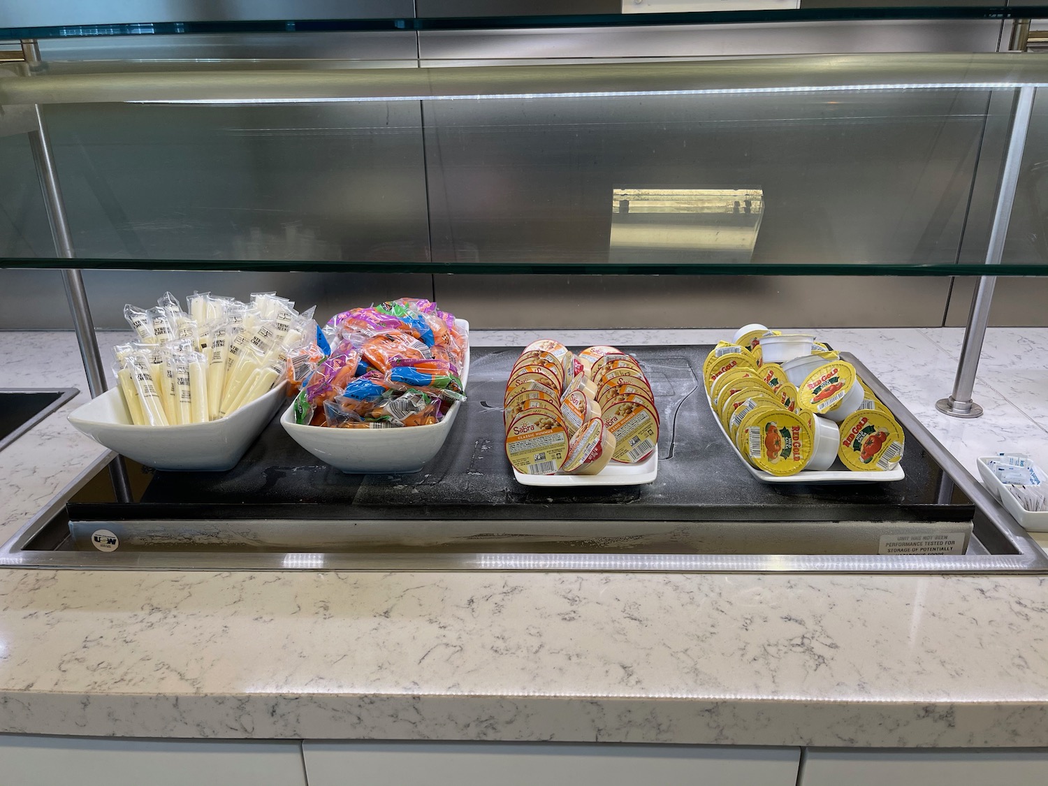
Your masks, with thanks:
M 135 425 L 117 388 L 69 415 L 69 422 L 95 442 L 156 470 L 232 470 L 285 400 L 286 383 L 210 423 Z

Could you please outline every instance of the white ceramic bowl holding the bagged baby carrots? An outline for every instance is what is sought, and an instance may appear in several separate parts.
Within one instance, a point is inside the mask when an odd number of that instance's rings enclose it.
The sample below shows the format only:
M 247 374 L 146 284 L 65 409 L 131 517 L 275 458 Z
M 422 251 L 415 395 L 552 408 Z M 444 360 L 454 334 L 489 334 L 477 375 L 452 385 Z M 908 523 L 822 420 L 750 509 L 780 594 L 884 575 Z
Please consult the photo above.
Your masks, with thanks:
M 458 320 L 468 330 L 470 323 Z M 470 376 L 470 347 L 462 365 L 462 387 Z M 439 423 L 403 429 L 328 429 L 294 422 L 294 407 L 280 416 L 291 439 L 321 461 L 344 473 L 407 475 L 417 473 L 447 439 L 462 403 L 456 401 Z

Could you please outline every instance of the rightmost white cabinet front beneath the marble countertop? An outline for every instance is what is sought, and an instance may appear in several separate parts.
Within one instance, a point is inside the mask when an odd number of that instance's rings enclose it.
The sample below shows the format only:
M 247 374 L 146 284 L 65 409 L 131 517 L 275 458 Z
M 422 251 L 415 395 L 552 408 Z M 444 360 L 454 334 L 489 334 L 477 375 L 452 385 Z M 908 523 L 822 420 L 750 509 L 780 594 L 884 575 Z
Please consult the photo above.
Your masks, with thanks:
M 809 748 L 799 786 L 1045 786 L 1048 750 Z

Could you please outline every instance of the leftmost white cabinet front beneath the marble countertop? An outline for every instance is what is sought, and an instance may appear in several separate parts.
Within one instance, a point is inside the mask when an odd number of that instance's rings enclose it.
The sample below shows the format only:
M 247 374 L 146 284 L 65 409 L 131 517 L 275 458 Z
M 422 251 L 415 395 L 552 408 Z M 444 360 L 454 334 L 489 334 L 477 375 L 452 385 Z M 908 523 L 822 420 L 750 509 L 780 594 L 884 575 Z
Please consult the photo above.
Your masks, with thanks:
M 297 742 L 0 736 L 3 786 L 305 786 Z

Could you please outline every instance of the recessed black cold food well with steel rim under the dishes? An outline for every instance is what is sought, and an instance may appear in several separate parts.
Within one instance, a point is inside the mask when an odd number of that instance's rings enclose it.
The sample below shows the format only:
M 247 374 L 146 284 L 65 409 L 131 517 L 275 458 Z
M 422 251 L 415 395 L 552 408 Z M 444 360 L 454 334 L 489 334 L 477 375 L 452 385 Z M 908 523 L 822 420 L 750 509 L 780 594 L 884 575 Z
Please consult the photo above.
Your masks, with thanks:
M 1045 571 L 1048 560 L 880 386 L 905 430 L 904 477 L 769 484 L 717 427 L 699 381 L 711 347 L 623 348 L 660 410 L 658 475 L 633 486 L 515 480 L 502 400 L 517 348 L 473 349 L 468 399 L 410 475 L 350 475 L 275 419 L 233 470 L 129 464 L 117 503 L 105 462 L 8 542 L 0 564 L 105 569 Z M 699 371 L 696 371 L 696 368 Z

